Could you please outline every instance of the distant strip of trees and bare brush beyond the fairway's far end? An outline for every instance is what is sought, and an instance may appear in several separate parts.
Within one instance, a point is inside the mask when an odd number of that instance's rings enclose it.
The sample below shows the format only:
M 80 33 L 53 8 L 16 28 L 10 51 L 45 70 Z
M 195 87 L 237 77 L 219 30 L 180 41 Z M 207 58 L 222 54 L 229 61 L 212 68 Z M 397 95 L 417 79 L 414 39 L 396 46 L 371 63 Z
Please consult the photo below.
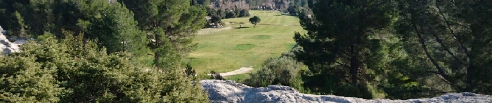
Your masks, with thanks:
M 250 17 L 247 10 L 280 10 L 299 16 L 301 12 L 312 14 L 306 0 L 192 0 L 207 6 L 209 20 L 205 27 L 217 27 L 221 19 Z

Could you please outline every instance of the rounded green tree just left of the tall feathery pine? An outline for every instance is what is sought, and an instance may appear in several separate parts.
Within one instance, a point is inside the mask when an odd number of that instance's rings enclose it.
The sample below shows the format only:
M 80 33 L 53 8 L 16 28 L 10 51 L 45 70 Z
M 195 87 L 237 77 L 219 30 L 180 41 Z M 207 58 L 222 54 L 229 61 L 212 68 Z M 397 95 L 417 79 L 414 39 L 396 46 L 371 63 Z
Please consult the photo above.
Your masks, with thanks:
M 145 48 L 147 38 L 137 27 L 137 22 L 124 5 L 109 3 L 107 1 L 80 2 L 79 9 L 86 13 L 86 18 L 91 22 L 87 27 L 82 27 L 89 38 L 102 41 L 102 46 L 108 48 L 108 52 L 130 51 L 132 53 Z M 92 14 L 94 13 L 94 14 Z M 100 15 L 100 17 L 99 17 Z M 84 20 L 78 20 L 78 24 L 85 24 Z

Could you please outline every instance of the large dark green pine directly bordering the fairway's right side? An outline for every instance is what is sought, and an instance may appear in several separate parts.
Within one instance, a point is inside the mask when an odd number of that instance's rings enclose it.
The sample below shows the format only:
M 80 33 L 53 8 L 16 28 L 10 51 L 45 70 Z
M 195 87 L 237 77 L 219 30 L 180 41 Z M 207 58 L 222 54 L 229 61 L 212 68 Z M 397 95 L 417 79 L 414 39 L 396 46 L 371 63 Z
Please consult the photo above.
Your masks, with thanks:
M 385 68 L 393 45 L 386 36 L 397 12 L 393 1 L 308 1 L 314 15 L 300 16 L 306 35 L 294 39 L 303 49 L 297 60 L 313 76 L 306 84 L 324 93 L 373 98 L 379 90 L 374 82 Z M 370 13 L 369 13 L 370 12 Z M 326 85 L 321 87 L 322 85 Z

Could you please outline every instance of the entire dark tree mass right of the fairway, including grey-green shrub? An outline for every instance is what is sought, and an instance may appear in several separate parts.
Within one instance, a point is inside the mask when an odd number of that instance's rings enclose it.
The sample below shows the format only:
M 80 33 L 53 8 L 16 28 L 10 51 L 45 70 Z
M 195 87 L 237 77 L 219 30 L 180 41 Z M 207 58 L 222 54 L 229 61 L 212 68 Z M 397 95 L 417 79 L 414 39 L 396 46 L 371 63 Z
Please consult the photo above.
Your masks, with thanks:
M 308 1 L 307 34 L 248 83 L 314 94 L 430 98 L 492 93 L 491 1 Z M 301 66 L 302 63 L 305 66 Z

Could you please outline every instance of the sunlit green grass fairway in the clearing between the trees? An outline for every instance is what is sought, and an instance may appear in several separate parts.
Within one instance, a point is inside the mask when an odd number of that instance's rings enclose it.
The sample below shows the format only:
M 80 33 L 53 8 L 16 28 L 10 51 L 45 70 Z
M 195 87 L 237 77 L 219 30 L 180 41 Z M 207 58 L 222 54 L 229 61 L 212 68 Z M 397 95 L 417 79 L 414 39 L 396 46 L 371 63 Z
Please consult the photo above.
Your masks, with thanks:
M 269 57 L 278 57 L 295 44 L 294 32 L 305 33 L 294 16 L 278 11 L 249 11 L 261 22 L 253 28 L 249 18 L 225 19 L 223 29 L 202 29 L 193 42 L 199 43 L 184 62 L 191 62 L 197 73 L 230 72 L 240 67 L 261 66 Z M 233 22 L 233 23 L 230 23 Z M 243 28 L 239 28 L 239 24 Z

